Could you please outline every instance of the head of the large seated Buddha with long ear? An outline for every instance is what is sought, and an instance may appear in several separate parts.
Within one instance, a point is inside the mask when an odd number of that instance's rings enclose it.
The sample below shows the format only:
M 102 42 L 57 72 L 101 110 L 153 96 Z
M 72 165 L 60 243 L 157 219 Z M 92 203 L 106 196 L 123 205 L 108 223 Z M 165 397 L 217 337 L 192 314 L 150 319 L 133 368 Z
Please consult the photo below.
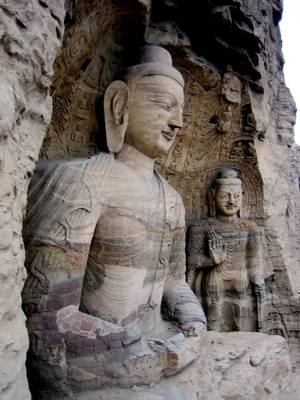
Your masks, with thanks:
M 118 153 L 125 142 L 150 158 L 167 154 L 182 128 L 183 87 L 169 52 L 143 47 L 140 63 L 127 68 L 123 81 L 112 82 L 105 92 L 110 152 Z

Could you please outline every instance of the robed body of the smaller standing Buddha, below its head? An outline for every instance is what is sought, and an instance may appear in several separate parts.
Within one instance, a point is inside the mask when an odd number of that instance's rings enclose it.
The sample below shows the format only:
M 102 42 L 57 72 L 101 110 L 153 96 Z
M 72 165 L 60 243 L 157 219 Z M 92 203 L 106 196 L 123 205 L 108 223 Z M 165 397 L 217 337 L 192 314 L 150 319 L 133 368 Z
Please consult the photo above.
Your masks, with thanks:
M 262 316 L 254 287 L 264 285 L 260 233 L 256 224 L 211 218 L 188 231 L 188 280 L 206 312 L 208 329 L 256 331 Z M 226 259 L 215 265 L 209 240 L 223 242 Z

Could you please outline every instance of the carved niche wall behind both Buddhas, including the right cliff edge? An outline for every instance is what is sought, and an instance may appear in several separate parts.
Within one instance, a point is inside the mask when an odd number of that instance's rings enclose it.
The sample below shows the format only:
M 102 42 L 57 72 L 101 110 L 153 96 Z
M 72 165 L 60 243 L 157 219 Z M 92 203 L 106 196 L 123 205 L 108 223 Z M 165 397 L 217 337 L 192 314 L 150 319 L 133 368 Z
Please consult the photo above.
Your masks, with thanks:
M 298 336 L 295 104 L 282 70 L 282 2 L 207 1 L 196 10 L 195 1 L 189 7 L 164 0 L 75 2 L 55 63 L 54 110 L 41 158 L 105 149 L 105 87 L 141 44 L 166 47 L 186 81 L 184 128 L 157 169 L 182 195 L 187 225 L 207 217 L 217 169 L 240 171 L 243 214 L 264 238 L 263 330 Z

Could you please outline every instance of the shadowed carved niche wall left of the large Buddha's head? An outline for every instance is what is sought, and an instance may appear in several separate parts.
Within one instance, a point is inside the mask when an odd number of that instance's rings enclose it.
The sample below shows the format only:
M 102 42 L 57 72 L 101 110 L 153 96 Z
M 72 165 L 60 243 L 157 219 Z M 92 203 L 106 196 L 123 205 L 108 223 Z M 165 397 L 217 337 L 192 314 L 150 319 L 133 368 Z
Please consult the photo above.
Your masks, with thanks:
M 41 159 L 82 157 L 106 148 L 101 98 L 124 67 L 124 49 L 140 47 L 145 18 L 139 2 L 131 8 L 107 0 L 74 6 L 54 65 L 52 121 Z

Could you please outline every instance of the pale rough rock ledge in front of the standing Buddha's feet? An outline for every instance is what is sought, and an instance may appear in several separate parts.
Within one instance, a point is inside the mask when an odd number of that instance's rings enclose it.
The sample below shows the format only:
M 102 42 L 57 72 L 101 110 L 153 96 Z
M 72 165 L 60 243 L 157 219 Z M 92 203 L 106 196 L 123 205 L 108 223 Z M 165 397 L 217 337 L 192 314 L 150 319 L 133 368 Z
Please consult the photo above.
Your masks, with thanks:
M 264 400 L 274 399 L 277 394 L 279 399 L 280 392 L 285 390 L 291 365 L 282 337 L 207 332 L 200 343 L 198 359 L 160 383 L 103 387 L 77 394 L 74 399 Z

